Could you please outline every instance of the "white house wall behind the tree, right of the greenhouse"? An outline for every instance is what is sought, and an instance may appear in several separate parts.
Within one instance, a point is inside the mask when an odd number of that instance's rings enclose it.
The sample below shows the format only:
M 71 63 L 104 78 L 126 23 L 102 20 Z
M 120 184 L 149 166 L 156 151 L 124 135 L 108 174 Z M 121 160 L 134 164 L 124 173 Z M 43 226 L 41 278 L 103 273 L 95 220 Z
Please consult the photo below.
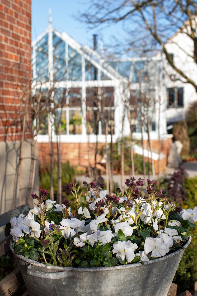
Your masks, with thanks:
M 176 67 L 183 71 L 190 79 L 197 83 L 197 65 L 193 55 L 193 41 L 186 33 L 177 33 L 166 44 L 169 54 L 173 54 L 173 60 Z M 191 83 L 185 83 L 185 79 L 177 74 L 168 64 L 164 56 L 164 67 L 168 75 L 165 75 L 166 94 L 167 88 L 183 87 L 183 107 L 168 107 L 166 102 L 166 118 L 168 123 L 177 122 L 185 118 L 185 111 L 191 102 L 197 100 L 197 93 Z

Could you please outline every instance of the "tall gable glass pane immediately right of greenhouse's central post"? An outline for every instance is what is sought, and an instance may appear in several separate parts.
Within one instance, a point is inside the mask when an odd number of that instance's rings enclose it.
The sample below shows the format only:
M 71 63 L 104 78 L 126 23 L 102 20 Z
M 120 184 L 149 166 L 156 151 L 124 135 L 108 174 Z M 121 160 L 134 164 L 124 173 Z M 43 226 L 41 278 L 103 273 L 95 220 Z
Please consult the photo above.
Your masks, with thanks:
M 65 42 L 53 33 L 53 80 L 66 79 Z

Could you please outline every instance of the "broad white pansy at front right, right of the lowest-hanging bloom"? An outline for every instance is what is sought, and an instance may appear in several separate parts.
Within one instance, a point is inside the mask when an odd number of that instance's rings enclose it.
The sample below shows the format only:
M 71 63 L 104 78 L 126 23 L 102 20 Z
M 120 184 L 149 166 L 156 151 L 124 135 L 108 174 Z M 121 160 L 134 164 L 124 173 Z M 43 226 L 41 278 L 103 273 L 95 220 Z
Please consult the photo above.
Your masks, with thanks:
M 170 248 L 160 237 L 146 237 L 144 251 L 146 254 L 152 252 L 151 257 L 162 257 L 170 251 Z

